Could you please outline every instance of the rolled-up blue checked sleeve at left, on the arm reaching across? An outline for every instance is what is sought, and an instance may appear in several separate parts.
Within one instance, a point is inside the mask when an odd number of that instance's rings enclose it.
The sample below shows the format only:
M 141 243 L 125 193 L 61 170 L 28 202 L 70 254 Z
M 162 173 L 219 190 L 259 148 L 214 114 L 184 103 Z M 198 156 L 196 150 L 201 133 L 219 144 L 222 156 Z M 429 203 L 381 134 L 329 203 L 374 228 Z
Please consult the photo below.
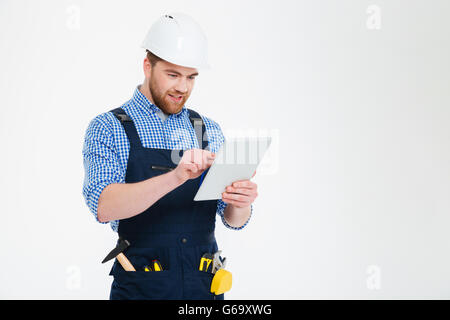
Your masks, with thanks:
M 125 172 L 118 161 L 112 128 L 105 116 L 94 118 L 87 130 L 83 146 L 83 196 L 97 222 L 98 199 L 103 189 L 112 183 L 124 183 Z M 118 221 L 110 221 L 112 225 Z M 100 222 L 108 223 L 108 222 Z

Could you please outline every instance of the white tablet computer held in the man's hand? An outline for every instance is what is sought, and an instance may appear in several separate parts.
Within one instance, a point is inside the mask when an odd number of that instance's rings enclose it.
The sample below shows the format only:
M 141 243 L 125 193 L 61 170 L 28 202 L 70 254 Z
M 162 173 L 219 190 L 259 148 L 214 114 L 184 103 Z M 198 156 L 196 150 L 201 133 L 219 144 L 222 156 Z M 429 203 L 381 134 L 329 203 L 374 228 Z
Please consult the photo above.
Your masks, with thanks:
M 271 137 L 225 139 L 194 201 L 222 199 L 227 186 L 238 180 L 249 180 L 271 142 Z

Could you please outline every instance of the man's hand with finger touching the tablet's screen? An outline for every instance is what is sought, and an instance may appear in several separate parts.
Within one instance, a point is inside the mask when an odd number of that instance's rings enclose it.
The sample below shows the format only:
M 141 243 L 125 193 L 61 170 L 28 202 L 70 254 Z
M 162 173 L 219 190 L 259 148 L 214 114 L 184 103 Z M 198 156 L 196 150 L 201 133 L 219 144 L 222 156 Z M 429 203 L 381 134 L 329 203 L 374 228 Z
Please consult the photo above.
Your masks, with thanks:
M 183 153 L 178 166 L 174 169 L 176 177 L 183 183 L 198 178 L 208 169 L 215 159 L 215 154 L 202 149 L 190 149 Z

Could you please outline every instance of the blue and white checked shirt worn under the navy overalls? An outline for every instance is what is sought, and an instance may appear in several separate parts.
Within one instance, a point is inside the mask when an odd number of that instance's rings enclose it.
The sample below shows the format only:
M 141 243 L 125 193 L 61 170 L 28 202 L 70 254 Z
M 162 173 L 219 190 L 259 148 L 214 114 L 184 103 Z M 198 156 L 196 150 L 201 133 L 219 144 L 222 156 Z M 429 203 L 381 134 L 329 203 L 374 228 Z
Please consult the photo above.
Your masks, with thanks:
M 136 87 L 131 100 L 121 108 L 131 117 L 144 148 L 182 149 L 199 148 L 198 141 L 189 121 L 189 112 L 185 106 L 177 114 L 171 114 L 163 122 L 158 113 L 161 110 L 151 103 Z M 224 142 L 219 124 L 202 116 L 205 123 L 210 151 L 217 153 Z M 103 189 L 111 183 L 125 183 L 130 143 L 119 120 L 111 113 L 105 112 L 95 117 L 86 130 L 83 147 L 85 179 L 83 196 L 97 222 L 98 199 Z M 227 228 L 240 230 L 225 221 L 223 216 L 227 204 L 217 201 L 217 214 Z M 251 206 L 253 213 L 253 205 Z M 249 219 L 250 220 L 250 219 Z M 108 222 L 100 222 L 108 223 Z M 109 222 L 117 232 L 119 220 Z

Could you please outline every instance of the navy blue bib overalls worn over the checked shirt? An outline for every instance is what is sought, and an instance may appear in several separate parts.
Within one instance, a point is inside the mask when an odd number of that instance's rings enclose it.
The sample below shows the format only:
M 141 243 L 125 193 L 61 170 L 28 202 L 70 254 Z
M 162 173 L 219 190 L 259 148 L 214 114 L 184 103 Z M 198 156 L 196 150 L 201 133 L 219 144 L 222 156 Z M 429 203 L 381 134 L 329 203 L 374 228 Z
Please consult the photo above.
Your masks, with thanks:
M 200 115 L 188 109 L 191 123 Z M 133 183 L 164 174 L 152 166 L 175 168 L 184 150 L 144 148 L 136 127 L 122 108 L 111 110 L 122 123 L 128 140 L 125 182 Z M 202 124 L 202 136 L 206 128 Z M 208 149 L 207 137 L 196 134 L 199 146 Z M 172 161 L 172 155 L 179 155 Z M 204 172 L 204 174 L 206 171 Z M 110 299 L 223 299 L 210 292 L 213 274 L 199 271 L 204 253 L 217 252 L 214 236 L 217 200 L 194 201 L 203 175 L 187 180 L 167 193 L 144 212 L 120 220 L 119 237 L 130 242 L 124 251 L 136 272 L 125 271 L 117 259 L 110 275 L 114 276 Z M 152 260 L 160 261 L 163 271 L 143 271 Z

